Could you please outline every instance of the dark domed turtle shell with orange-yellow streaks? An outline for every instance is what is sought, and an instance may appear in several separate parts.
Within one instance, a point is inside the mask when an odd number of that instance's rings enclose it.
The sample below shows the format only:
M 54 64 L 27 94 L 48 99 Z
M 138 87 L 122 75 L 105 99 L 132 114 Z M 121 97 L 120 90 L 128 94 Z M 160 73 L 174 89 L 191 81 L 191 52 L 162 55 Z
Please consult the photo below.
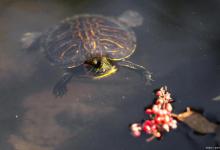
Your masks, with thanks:
M 136 37 L 114 18 L 79 15 L 45 33 L 43 46 L 52 63 L 72 68 L 97 55 L 111 60 L 127 58 L 136 48 Z

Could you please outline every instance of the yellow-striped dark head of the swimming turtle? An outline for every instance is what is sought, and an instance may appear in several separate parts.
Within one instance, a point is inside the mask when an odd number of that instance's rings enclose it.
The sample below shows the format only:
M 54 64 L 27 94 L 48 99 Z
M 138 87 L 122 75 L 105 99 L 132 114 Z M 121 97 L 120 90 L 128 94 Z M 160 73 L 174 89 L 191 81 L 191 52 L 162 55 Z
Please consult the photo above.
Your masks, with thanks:
M 118 70 L 108 57 L 94 57 L 85 62 L 88 73 L 94 79 L 102 79 L 108 77 Z

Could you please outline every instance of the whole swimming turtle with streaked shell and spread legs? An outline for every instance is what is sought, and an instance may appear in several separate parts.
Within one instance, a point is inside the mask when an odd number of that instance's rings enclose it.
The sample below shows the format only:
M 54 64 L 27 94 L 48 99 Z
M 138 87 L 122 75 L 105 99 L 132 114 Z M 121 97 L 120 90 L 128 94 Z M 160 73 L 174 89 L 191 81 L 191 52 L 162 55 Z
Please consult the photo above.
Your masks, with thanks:
M 127 60 L 136 50 L 136 35 L 132 27 L 140 26 L 143 17 L 127 10 L 119 17 L 99 14 L 79 14 L 65 18 L 47 31 L 27 32 L 21 39 L 24 48 L 36 43 L 48 60 L 64 73 L 53 88 L 53 94 L 63 96 L 77 67 L 84 67 L 93 79 L 102 79 L 123 66 L 140 71 L 146 84 L 152 75 L 145 67 Z

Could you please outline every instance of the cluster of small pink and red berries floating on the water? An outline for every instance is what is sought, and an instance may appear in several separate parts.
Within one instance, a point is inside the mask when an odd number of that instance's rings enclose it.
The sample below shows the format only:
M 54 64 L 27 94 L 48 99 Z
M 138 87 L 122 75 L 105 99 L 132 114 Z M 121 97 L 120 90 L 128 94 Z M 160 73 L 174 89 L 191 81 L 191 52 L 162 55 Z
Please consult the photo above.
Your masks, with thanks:
M 151 108 L 147 108 L 145 113 L 149 115 L 149 119 L 143 124 L 134 123 L 131 125 L 131 133 L 135 137 L 139 137 L 141 132 L 151 134 L 152 137 L 147 139 L 151 141 L 154 138 L 160 138 L 166 131 L 177 128 L 177 121 L 172 117 L 173 102 L 167 87 L 162 87 L 156 92 L 156 102 Z

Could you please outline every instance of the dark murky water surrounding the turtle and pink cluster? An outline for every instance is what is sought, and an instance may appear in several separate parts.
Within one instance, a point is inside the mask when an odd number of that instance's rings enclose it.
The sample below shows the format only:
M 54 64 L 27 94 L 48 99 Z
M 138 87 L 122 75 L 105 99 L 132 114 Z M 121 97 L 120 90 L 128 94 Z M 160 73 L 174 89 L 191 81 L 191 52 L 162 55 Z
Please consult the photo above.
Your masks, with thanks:
M 20 38 L 45 31 L 67 16 L 97 13 L 118 16 L 125 10 L 144 17 L 135 28 L 132 61 L 147 66 L 155 82 L 121 69 L 100 81 L 74 78 L 68 93 L 51 89 L 62 70 L 39 51 L 21 49 Z M 175 112 L 203 109 L 220 121 L 220 2 L 218 0 L 1 0 L 0 2 L 0 149 L 1 150 L 146 150 L 204 149 L 213 136 L 197 136 L 182 125 L 164 140 L 146 143 L 128 125 L 144 118 L 152 91 L 167 85 Z

